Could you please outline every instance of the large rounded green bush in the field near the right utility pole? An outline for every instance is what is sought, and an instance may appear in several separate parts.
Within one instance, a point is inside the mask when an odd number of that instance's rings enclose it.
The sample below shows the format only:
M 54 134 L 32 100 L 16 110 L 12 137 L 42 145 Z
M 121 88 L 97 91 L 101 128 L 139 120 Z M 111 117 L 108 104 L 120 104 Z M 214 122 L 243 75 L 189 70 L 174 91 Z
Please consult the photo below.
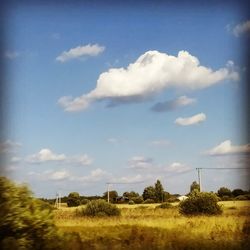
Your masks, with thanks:
M 193 192 L 189 198 L 180 203 L 179 211 L 185 215 L 221 214 L 222 209 L 217 202 L 218 198 L 213 193 Z

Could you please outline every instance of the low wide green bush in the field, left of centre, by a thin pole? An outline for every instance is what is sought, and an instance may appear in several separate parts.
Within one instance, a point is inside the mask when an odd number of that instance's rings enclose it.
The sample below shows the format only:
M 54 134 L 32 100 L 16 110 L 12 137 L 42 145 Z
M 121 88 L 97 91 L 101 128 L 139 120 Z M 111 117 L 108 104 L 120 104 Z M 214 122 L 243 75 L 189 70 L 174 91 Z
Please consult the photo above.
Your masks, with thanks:
M 83 214 L 86 216 L 118 216 L 121 211 L 116 205 L 105 200 L 93 200 L 83 209 Z

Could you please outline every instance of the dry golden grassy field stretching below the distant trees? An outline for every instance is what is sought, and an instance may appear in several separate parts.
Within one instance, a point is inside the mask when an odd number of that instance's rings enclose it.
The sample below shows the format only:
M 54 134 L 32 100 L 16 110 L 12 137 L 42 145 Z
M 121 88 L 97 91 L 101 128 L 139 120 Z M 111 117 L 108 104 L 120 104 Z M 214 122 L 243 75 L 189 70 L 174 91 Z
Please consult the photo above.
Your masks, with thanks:
M 220 204 L 218 216 L 186 217 L 177 206 L 124 204 L 118 205 L 119 217 L 84 217 L 81 207 L 62 207 L 55 219 L 63 232 L 75 235 L 72 249 L 250 249 L 250 202 Z

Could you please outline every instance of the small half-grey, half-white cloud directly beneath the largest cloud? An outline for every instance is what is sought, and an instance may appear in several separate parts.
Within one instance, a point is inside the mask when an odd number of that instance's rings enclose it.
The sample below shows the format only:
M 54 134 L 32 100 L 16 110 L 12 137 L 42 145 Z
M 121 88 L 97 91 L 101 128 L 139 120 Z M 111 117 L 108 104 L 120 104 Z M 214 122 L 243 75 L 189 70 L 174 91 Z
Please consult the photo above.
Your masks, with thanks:
M 187 96 L 180 96 L 179 98 L 171 101 L 158 102 L 151 107 L 152 111 L 155 112 L 167 112 L 172 111 L 180 107 L 185 107 L 191 104 L 194 104 L 196 99 L 189 98 Z

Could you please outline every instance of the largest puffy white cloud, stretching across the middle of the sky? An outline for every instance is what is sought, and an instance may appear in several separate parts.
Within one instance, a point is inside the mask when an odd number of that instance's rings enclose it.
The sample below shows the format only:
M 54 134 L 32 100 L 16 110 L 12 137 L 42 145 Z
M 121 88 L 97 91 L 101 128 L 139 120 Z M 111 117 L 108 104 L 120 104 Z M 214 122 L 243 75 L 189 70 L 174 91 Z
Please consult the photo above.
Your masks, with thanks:
M 203 89 L 223 80 L 238 80 L 239 75 L 231 68 L 211 68 L 200 65 L 197 57 L 187 51 L 178 56 L 147 51 L 127 68 L 111 68 L 102 73 L 96 88 L 80 97 L 61 97 L 58 103 L 65 111 L 86 109 L 97 100 L 109 100 L 109 106 L 119 103 L 138 102 L 167 88 L 188 90 Z M 187 101 L 185 97 L 182 102 Z

